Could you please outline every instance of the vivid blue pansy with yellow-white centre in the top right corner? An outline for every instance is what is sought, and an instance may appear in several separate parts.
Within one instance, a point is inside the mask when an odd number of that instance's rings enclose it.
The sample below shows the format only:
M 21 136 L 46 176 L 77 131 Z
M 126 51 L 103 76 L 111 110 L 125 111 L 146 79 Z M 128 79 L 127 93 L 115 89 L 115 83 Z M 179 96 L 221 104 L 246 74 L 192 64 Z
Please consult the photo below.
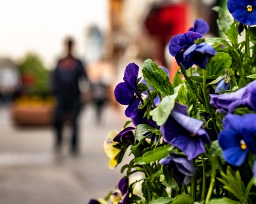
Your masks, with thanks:
M 256 25 L 255 0 L 228 0 L 228 10 L 233 18 L 246 25 Z

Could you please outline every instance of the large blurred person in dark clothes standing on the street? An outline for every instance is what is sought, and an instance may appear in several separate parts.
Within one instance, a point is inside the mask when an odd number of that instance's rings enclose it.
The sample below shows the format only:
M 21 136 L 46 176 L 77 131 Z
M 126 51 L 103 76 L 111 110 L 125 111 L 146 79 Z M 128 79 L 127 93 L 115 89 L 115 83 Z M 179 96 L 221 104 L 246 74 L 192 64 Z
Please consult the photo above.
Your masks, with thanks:
M 55 149 L 59 152 L 62 148 L 63 124 L 68 119 L 72 128 L 70 152 L 77 155 L 79 153 L 78 115 L 82 105 L 79 80 L 88 80 L 88 77 L 81 60 L 76 59 L 72 54 L 73 45 L 72 38 L 67 38 L 65 41 L 67 55 L 58 60 L 53 72 L 52 88 L 57 99 L 54 111 Z

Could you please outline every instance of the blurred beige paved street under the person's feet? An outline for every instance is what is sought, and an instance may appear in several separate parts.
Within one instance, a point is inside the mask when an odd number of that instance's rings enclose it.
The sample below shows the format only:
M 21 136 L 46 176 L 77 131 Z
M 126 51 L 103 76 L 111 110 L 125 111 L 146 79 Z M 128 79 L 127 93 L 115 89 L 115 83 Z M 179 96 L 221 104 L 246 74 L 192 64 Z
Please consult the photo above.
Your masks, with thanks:
M 14 127 L 8 108 L 0 107 L 0 203 L 82 204 L 105 197 L 122 175 L 120 168 L 108 168 L 104 138 L 125 121 L 122 112 L 108 107 L 97 125 L 87 106 L 80 115 L 80 156 L 71 157 L 66 144 L 56 157 L 51 127 Z

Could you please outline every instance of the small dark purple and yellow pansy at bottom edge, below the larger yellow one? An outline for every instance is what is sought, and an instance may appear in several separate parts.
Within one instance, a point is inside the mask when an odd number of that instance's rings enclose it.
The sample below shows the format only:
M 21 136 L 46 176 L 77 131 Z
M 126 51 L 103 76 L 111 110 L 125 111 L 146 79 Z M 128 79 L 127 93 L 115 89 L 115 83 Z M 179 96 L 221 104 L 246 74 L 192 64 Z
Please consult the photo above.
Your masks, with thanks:
M 129 180 L 123 177 L 117 184 L 117 191 L 110 196 L 112 203 L 126 204 L 130 195 Z

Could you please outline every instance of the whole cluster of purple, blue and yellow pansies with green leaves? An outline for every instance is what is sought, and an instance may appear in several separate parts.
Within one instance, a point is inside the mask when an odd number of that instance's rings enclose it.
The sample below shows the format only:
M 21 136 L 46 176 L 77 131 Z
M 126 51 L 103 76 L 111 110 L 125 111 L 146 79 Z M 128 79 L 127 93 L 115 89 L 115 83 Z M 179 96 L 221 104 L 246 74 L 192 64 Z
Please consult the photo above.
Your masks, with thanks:
M 130 121 L 109 132 L 104 149 L 110 168 L 127 150 L 131 159 L 110 196 L 90 203 L 256 203 L 256 1 L 227 7 L 234 19 L 213 9 L 228 40 L 204 37 L 203 19 L 170 39 L 172 82 L 151 59 L 142 77 L 137 64 L 127 65 L 114 96 Z

